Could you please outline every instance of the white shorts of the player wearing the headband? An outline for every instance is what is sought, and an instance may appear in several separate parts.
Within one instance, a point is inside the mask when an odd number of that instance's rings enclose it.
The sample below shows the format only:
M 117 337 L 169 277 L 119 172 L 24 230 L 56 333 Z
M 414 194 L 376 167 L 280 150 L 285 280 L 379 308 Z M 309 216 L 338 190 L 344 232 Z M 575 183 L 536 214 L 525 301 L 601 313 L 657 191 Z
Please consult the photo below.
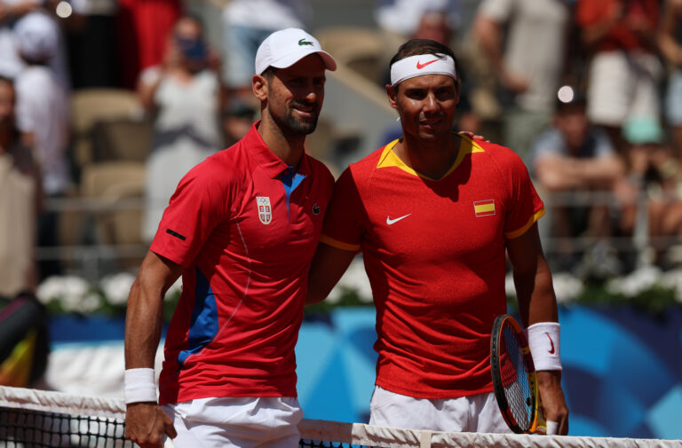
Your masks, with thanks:
M 470 397 L 413 398 L 374 388 L 369 424 L 432 431 L 511 433 L 495 394 Z

